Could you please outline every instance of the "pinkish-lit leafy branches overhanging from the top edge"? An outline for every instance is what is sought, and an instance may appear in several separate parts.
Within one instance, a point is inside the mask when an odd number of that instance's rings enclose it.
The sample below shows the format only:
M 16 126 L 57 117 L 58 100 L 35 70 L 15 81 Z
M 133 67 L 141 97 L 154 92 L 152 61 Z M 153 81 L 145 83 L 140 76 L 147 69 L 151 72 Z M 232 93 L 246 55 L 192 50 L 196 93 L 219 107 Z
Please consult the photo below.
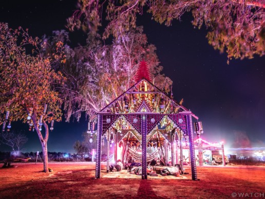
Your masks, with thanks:
M 104 37 L 124 34 L 130 27 L 136 27 L 138 14 L 143 10 L 152 13 L 160 24 L 171 25 L 174 19 L 181 19 L 185 12 L 192 12 L 193 25 L 209 30 L 209 44 L 221 52 L 226 50 L 228 59 L 253 58 L 264 55 L 265 3 L 263 0 L 123 0 L 99 1 L 79 0 L 78 9 L 68 19 L 70 30 L 82 28 L 95 32 L 102 23 L 102 12 L 106 8 L 109 23 Z

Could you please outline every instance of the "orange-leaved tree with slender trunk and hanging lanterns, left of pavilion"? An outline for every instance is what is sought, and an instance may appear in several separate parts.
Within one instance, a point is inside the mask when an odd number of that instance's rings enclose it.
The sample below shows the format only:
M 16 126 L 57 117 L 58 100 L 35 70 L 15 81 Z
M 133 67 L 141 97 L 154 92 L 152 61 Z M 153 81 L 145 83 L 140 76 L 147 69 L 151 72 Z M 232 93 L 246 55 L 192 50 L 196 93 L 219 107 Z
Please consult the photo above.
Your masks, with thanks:
M 56 53 L 46 56 L 44 45 L 39 38 L 30 37 L 27 29 L 13 30 L 0 23 L 0 114 L 6 118 L 1 123 L 5 129 L 8 120 L 28 119 L 40 138 L 44 171 L 48 172 L 48 123 L 61 121 L 62 116 L 62 100 L 55 86 L 64 79 L 53 67 L 63 58 L 63 43 L 56 43 Z

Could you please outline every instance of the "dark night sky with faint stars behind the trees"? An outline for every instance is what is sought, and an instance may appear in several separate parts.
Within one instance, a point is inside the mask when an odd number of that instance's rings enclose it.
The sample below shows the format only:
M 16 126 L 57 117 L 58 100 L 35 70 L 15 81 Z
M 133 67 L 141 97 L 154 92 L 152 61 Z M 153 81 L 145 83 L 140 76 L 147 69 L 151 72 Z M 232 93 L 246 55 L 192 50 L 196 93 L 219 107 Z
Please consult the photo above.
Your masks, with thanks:
M 75 9 L 75 1 L 3 1 L 0 21 L 11 28 L 29 28 L 33 36 L 51 35 L 65 29 L 66 19 Z M 265 143 L 265 57 L 232 60 L 207 43 L 206 30 L 191 24 L 185 14 L 182 21 L 166 27 L 151 20 L 149 14 L 138 17 L 148 42 L 157 47 L 163 73 L 173 80 L 174 98 L 189 108 L 203 123 L 203 138 L 223 140 L 226 147 L 256 147 Z M 81 31 L 70 33 L 72 44 L 86 39 Z M 29 141 L 24 151 L 41 151 L 35 132 L 28 126 L 13 125 L 25 130 Z M 55 123 L 48 140 L 49 151 L 73 152 L 75 140 L 86 131 L 85 119 L 80 123 Z M 0 145 L 0 151 L 7 148 Z

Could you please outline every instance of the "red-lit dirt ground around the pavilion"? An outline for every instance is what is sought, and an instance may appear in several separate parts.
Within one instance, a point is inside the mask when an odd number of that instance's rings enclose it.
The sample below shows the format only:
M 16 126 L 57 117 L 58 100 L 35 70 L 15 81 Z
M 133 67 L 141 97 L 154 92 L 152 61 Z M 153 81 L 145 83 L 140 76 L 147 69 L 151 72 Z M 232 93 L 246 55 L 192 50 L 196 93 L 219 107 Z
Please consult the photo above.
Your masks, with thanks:
M 184 179 L 94 179 L 92 162 L 50 162 L 51 173 L 42 163 L 16 163 L 0 169 L 0 198 L 232 198 L 264 197 L 265 167 L 197 167 L 192 180 L 190 167 Z M 0 165 L 2 167 L 2 164 Z M 131 174 L 133 175 L 133 174 Z M 243 195 L 242 195 L 243 194 Z M 252 197 L 251 197 L 252 195 Z

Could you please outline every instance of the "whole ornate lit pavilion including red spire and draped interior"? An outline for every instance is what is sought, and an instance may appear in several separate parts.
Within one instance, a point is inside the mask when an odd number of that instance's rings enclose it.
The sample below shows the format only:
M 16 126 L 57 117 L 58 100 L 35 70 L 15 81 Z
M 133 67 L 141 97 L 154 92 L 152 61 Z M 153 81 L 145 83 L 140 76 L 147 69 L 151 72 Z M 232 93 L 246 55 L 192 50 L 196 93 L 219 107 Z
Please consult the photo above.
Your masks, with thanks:
M 180 143 L 180 165 L 183 173 L 182 139 L 190 146 L 192 179 L 197 180 L 191 111 L 167 96 L 151 83 L 147 63 L 140 62 L 136 83 L 97 114 L 96 178 L 101 172 L 101 146 L 107 139 L 107 172 L 109 148 L 114 148 L 123 164 L 133 158 L 142 165 L 142 179 L 147 179 L 147 162 L 160 157 L 165 165 L 178 163 L 176 142 Z

